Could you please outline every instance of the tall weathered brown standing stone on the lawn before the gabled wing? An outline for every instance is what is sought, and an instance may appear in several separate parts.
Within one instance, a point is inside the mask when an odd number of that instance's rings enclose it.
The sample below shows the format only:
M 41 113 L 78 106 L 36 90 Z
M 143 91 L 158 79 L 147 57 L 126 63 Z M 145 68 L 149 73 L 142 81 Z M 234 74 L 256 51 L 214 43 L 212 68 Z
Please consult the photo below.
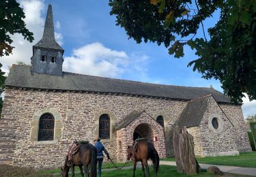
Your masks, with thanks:
M 177 172 L 184 174 L 198 174 L 200 172 L 201 167 L 195 159 L 193 136 L 186 131 L 186 127 L 175 127 L 173 148 Z

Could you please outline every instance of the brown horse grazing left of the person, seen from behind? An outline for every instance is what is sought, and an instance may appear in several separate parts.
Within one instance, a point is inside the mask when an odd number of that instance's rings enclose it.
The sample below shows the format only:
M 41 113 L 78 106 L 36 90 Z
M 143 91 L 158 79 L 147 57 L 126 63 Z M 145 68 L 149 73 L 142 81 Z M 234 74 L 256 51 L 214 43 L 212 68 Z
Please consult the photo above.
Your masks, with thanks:
M 72 155 L 72 176 L 74 177 L 74 166 L 79 166 L 81 175 L 84 176 L 83 170 L 85 171 L 86 177 L 96 177 L 97 176 L 97 150 L 92 144 L 81 144 L 78 152 Z M 90 165 L 90 170 L 88 167 Z M 68 156 L 64 163 L 63 169 L 61 168 L 61 176 L 68 176 L 68 171 L 70 166 L 68 166 Z

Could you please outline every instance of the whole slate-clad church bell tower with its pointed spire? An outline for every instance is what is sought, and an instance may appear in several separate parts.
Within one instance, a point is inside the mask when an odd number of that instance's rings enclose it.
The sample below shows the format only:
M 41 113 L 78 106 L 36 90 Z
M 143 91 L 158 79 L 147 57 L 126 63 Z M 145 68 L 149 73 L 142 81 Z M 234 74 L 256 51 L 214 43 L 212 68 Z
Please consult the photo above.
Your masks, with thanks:
M 38 74 L 62 76 L 63 53 L 63 48 L 55 41 L 53 10 L 50 4 L 48 5 L 43 37 L 33 46 L 31 71 Z

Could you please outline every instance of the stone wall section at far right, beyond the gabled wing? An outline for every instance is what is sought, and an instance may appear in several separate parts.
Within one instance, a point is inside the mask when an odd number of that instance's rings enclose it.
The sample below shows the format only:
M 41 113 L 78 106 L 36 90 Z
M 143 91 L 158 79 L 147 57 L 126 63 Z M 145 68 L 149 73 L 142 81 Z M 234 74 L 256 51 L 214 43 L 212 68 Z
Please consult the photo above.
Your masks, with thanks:
M 236 131 L 236 146 L 238 147 L 239 152 L 251 152 L 252 149 L 248 140 L 241 106 L 220 104 L 220 107 L 234 126 Z

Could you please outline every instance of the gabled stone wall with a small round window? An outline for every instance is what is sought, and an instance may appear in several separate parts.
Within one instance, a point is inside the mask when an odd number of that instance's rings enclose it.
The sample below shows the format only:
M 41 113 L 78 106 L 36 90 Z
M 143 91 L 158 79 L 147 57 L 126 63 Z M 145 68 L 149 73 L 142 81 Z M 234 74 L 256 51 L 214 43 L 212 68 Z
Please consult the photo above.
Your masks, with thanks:
M 217 118 L 218 129 L 214 129 L 212 118 Z M 188 132 L 194 137 L 195 155 L 197 156 L 239 154 L 235 143 L 235 128 L 213 97 L 208 102 L 208 108 L 199 126 L 189 128 Z

